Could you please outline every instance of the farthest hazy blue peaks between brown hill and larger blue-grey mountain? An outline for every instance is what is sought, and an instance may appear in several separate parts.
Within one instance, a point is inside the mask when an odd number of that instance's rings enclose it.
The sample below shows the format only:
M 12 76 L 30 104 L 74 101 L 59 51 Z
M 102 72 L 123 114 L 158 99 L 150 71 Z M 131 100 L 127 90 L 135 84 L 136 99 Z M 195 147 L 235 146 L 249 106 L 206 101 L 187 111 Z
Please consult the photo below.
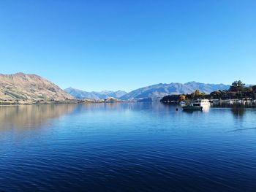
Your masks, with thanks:
M 64 91 L 69 93 L 70 95 L 74 96 L 76 99 L 108 99 L 110 97 L 113 98 L 120 98 L 124 96 L 127 92 L 125 91 L 81 91 L 75 88 L 67 88 Z

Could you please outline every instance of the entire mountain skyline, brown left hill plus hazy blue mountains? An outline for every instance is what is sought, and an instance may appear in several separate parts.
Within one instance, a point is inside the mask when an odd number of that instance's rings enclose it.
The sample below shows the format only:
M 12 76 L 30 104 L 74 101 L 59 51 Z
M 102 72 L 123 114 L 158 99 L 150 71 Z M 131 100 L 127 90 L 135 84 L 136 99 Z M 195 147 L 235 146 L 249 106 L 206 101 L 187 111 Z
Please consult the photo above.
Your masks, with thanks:
M 230 85 L 206 84 L 200 82 L 169 84 L 159 83 L 144 88 L 138 88 L 129 93 L 125 91 L 81 91 L 67 88 L 64 91 L 53 82 L 45 80 L 36 74 L 0 74 L 1 100 L 55 100 L 66 99 L 108 99 L 116 98 L 130 101 L 159 100 L 169 94 L 192 93 L 196 89 L 200 92 L 211 93 L 217 90 L 227 90 Z

